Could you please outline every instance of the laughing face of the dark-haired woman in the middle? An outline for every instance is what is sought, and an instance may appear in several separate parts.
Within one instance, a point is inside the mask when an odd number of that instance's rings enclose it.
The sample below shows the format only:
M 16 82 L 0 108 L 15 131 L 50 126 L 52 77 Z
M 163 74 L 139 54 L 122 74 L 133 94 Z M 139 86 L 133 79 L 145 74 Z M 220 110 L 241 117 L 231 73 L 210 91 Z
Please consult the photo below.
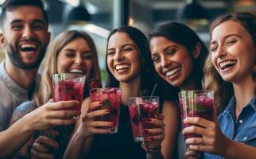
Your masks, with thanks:
M 126 33 L 114 33 L 108 43 L 107 67 L 119 82 L 129 82 L 141 72 L 138 47 Z

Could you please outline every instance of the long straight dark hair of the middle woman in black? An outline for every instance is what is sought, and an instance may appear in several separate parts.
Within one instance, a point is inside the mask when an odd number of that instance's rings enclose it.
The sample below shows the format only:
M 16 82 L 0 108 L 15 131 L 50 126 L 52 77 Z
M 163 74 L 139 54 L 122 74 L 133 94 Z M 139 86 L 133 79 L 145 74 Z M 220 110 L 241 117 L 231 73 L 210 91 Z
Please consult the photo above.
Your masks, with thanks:
M 108 41 L 110 40 L 111 36 L 114 33 L 121 32 L 126 33 L 132 41 L 134 41 L 134 44 L 137 45 L 139 49 L 139 57 L 141 62 L 141 95 L 150 95 L 151 91 L 153 90 L 153 87 L 155 83 L 158 85 L 158 78 L 157 78 L 157 72 L 155 72 L 155 69 L 153 67 L 153 61 L 150 57 L 149 52 L 149 43 L 147 41 L 147 38 L 145 37 L 145 34 L 142 33 L 139 29 L 136 29 L 132 26 L 122 26 L 118 29 L 114 29 L 109 37 L 107 38 L 107 48 L 108 48 Z M 107 61 L 107 56 L 106 56 Z M 107 64 L 107 62 L 106 62 Z M 107 87 L 119 87 L 119 82 L 114 78 L 114 76 L 111 74 L 108 67 L 107 68 Z M 154 95 L 160 96 L 161 99 L 164 99 L 164 96 L 162 95 L 161 86 L 157 86 L 156 91 L 154 92 Z

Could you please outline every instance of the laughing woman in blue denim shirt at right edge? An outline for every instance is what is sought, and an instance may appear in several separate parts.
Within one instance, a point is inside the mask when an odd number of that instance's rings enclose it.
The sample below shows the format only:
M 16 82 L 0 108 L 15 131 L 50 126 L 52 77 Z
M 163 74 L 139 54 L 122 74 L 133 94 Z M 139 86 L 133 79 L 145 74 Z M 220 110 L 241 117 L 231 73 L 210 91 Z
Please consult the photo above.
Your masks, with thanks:
M 185 118 L 185 123 L 199 126 L 183 131 L 202 134 L 203 138 L 188 138 L 186 143 L 191 149 L 207 152 L 204 158 L 256 157 L 255 20 L 253 14 L 227 14 L 211 25 L 204 88 L 215 91 L 219 124 Z

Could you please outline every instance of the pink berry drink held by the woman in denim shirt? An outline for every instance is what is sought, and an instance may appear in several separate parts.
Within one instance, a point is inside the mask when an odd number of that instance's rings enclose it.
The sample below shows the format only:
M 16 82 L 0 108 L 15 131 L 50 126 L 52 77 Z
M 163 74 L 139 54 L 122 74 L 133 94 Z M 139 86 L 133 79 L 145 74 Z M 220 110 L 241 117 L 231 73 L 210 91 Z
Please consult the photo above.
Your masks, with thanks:
M 214 109 L 213 96 L 213 91 L 181 91 L 179 93 L 181 121 L 187 117 L 200 117 L 212 121 Z M 192 124 L 181 123 L 183 128 L 192 126 Z M 200 134 L 184 135 L 185 139 L 201 137 Z

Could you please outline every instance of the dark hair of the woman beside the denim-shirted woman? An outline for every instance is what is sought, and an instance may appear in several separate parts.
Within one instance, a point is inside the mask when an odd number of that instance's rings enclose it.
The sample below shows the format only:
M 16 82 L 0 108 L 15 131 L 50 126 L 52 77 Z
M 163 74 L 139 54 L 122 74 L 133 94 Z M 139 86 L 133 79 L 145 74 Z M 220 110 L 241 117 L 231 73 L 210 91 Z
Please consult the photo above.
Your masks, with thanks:
M 204 42 L 200 40 L 200 37 L 187 25 L 178 23 L 176 21 L 170 21 L 164 25 L 159 25 L 157 29 L 155 29 L 152 33 L 149 33 L 149 41 L 153 37 L 165 37 L 169 41 L 174 41 L 179 45 L 183 45 L 187 48 L 188 53 L 192 56 L 193 49 L 196 48 L 196 45 L 200 43 L 201 51 L 200 56 L 197 59 L 194 59 L 193 64 L 195 68 L 192 71 L 192 75 L 196 76 L 196 87 L 197 89 L 202 88 L 202 79 L 204 76 L 203 68 L 204 68 L 204 61 L 208 56 L 208 48 L 204 45 Z M 170 84 L 167 82 L 165 83 L 165 87 L 170 87 Z M 172 87 L 169 89 L 173 89 Z

